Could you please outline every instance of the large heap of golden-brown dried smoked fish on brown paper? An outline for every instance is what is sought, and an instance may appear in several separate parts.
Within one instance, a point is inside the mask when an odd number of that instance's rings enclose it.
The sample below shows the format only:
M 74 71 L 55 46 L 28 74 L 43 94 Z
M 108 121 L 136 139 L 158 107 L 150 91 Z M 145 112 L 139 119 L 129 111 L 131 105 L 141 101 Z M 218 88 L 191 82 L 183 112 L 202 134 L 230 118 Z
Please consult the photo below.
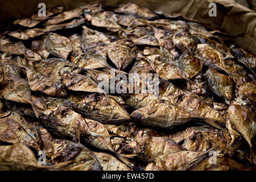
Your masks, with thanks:
M 15 20 L 0 34 L 0 169 L 255 169 L 256 57 L 230 37 L 133 3 Z M 101 73 L 158 73 L 159 93 L 105 92 Z

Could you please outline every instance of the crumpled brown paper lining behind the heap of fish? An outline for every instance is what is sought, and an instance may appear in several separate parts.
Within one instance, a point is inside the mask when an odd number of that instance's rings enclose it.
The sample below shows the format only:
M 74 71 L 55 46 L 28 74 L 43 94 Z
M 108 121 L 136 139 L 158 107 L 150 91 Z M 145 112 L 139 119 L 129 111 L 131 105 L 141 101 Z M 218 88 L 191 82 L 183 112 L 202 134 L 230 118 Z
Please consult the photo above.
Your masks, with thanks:
M 94 2 L 90 0 L 1 0 L 0 1 L 0 28 L 16 18 L 27 17 L 38 11 L 38 3 L 46 3 L 47 7 L 57 5 L 65 9 Z M 134 2 L 147 6 L 151 10 L 167 13 L 181 13 L 202 23 L 208 23 L 214 28 L 221 28 L 232 35 L 235 42 L 249 49 L 256 55 L 256 13 L 253 10 L 236 3 L 233 0 L 109 0 L 102 1 L 104 5 L 117 6 L 122 3 Z M 208 16 L 210 2 L 217 3 L 217 17 Z

